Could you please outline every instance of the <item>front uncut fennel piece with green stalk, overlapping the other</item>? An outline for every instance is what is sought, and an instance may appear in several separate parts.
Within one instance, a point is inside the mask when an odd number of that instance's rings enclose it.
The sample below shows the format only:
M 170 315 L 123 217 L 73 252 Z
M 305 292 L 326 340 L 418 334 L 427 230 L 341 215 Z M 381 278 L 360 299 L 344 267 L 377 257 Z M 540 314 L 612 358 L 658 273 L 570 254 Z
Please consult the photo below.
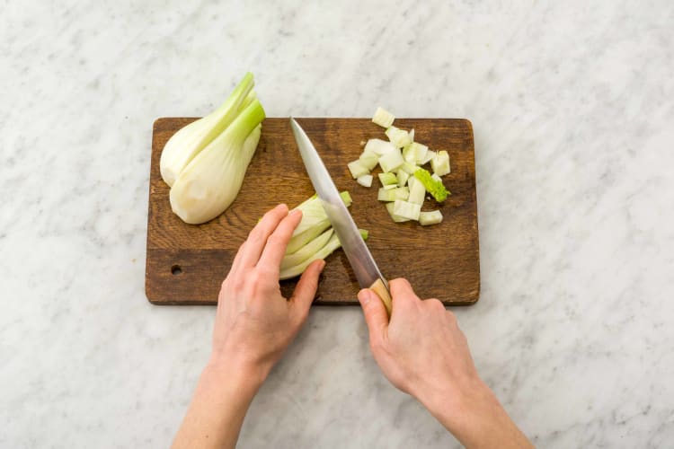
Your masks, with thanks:
M 183 222 L 206 223 L 234 202 L 260 141 L 262 119 L 264 110 L 255 99 L 182 169 L 169 200 Z

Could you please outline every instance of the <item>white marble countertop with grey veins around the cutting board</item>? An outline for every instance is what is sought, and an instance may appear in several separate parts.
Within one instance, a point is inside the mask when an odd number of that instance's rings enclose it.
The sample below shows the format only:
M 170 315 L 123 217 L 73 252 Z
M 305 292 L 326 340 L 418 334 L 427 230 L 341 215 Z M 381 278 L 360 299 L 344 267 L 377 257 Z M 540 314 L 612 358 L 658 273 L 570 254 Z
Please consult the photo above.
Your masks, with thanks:
M 482 295 L 456 313 L 540 447 L 674 438 L 674 3 L 0 8 L 0 447 L 165 447 L 212 307 L 144 293 L 152 122 L 250 70 L 270 117 L 473 122 Z M 240 447 L 455 447 L 315 308 Z

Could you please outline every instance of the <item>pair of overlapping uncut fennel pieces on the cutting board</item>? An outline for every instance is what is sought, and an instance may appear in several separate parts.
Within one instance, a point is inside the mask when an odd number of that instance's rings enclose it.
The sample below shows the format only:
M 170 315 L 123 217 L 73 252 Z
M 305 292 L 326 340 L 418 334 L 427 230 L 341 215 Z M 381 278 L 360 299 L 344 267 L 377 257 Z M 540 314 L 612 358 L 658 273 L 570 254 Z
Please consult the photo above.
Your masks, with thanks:
M 238 195 L 262 133 L 264 110 L 248 73 L 229 98 L 164 145 L 159 169 L 173 212 L 191 225 L 222 214 Z

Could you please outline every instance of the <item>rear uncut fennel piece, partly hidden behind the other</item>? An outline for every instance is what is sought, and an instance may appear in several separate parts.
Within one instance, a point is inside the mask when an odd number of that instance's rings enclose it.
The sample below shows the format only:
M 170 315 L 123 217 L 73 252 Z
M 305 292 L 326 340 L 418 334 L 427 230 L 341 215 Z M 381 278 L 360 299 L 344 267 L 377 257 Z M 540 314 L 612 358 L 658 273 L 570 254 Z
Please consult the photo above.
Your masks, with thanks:
M 253 85 L 253 74 L 247 73 L 217 110 L 181 128 L 166 142 L 159 158 L 159 171 L 166 184 L 173 187 L 187 164 L 253 102 Z

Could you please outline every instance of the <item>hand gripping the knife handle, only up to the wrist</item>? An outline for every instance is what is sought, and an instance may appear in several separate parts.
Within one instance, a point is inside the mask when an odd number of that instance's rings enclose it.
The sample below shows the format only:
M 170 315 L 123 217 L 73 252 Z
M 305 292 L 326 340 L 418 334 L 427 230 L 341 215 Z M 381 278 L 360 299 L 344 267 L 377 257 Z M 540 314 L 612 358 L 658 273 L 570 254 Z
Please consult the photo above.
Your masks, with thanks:
M 404 278 L 389 283 L 393 298 L 391 320 L 377 295 L 359 292 L 369 328 L 372 354 L 386 378 L 421 402 L 445 390 L 459 398 L 481 383 L 466 337 L 454 313 L 437 299 L 422 301 Z

